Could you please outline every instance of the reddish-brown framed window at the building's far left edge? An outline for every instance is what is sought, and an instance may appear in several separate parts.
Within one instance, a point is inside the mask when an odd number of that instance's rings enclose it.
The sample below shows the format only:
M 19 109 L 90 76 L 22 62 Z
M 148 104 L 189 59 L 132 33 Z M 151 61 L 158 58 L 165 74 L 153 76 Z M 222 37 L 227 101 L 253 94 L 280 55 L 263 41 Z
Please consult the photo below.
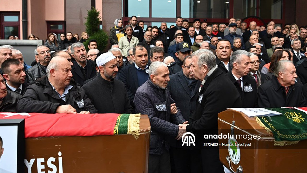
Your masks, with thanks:
M 1 38 L 7 39 L 9 35 L 20 38 L 20 16 L 18 13 L 1 13 Z

